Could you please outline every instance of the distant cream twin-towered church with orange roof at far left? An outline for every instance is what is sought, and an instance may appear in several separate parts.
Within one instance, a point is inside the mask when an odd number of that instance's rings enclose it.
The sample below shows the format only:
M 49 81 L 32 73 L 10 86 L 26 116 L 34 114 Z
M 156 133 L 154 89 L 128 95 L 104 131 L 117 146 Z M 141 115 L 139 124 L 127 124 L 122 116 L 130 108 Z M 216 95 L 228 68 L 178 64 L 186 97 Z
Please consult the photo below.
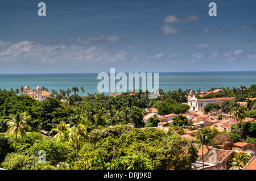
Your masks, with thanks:
M 39 86 L 37 86 L 35 88 L 35 91 L 31 91 L 30 87 L 26 86 L 26 87 L 23 88 L 22 94 L 23 95 L 28 95 L 32 99 L 39 100 L 39 101 L 46 100 L 46 98 L 51 98 L 52 97 L 51 93 L 49 93 L 47 91 L 43 91 L 42 88 L 39 87 Z

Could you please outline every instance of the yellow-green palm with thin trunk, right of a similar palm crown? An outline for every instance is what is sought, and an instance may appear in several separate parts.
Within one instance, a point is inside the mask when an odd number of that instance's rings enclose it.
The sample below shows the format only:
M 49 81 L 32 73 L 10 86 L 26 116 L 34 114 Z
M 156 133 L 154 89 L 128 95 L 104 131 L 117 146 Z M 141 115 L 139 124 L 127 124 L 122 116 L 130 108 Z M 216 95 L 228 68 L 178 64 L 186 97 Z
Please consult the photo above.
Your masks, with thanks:
M 72 144 L 76 147 L 76 159 L 77 159 L 77 150 L 81 145 L 84 144 L 85 141 L 89 141 L 87 128 L 84 124 L 80 123 L 77 126 L 73 126 L 71 128 L 71 132 L 68 135 L 69 135 L 68 144 Z

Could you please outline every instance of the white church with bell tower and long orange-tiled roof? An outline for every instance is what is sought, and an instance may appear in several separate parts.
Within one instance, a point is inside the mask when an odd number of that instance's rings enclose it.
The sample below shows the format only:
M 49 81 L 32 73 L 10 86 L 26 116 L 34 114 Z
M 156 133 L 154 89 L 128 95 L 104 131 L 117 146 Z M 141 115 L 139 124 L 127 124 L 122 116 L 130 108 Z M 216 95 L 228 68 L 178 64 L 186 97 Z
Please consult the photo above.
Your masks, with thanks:
M 225 101 L 225 100 L 234 100 L 235 98 L 212 98 L 212 99 L 198 99 L 196 94 L 191 90 L 188 94 L 188 106 L 190 106 L 189 111 L 200 111 L 204 110 L 204 107 L 208 103 L 214 103 L 217 100 Z

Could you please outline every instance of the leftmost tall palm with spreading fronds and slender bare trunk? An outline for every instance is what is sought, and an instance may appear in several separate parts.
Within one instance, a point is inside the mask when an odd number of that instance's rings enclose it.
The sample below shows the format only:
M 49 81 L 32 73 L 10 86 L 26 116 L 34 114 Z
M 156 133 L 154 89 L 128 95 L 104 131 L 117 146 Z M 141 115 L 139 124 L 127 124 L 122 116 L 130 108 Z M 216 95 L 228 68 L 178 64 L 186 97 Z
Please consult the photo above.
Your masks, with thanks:
M 15 134 L 15 153 L 18 133 L 23 137 L 26 135 L 24 129 L 30 131 L 32 128 L 27 125 L 26 120 L 30 119 L 30 116 L 26 116 L 26 112 L 19 113 L 18 111 L 15 115 L 10 115 L 10 119 L 6 119 L 4 122 L 9 126 L 6 133 L 13 132 Z

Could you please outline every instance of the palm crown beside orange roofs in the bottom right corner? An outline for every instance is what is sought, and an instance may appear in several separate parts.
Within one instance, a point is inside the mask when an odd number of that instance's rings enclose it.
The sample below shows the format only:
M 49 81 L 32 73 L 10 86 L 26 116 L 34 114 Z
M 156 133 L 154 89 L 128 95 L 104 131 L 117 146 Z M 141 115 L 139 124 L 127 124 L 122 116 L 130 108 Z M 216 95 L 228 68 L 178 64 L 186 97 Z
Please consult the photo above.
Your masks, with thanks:
M 241 170 L 250 161 L 251 156 L 246 152 L 233 152 L 232 162 L 229 163 L 229 170 Z

